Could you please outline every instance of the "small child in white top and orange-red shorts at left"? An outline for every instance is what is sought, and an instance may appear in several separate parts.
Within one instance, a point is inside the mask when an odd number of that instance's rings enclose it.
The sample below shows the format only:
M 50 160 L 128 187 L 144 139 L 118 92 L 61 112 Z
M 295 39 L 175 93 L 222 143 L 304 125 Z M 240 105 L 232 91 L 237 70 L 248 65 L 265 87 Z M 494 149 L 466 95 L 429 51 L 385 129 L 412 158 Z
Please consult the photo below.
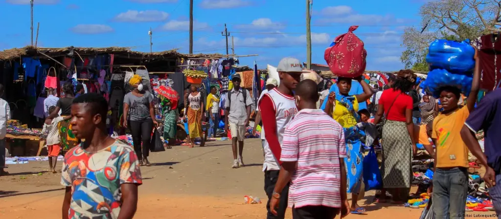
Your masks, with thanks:
M 56 110 L 56 106 L 49 107 L 49 115 Z M 58 161 L 59 153 L 61 152 L 61 144 L 59 138 L 59 128 L 58 124 L 62 120 L 69 119 L 70 116 L 63 117 L 58 116 L 54 119 L 47 117 L 45 119 L 44 128 L 42 129 L 42 133 L 47 133 L 47 150 L 49 151 L 49 171 L 53 173 L 57 173 L 56 171 L 56 162 Z

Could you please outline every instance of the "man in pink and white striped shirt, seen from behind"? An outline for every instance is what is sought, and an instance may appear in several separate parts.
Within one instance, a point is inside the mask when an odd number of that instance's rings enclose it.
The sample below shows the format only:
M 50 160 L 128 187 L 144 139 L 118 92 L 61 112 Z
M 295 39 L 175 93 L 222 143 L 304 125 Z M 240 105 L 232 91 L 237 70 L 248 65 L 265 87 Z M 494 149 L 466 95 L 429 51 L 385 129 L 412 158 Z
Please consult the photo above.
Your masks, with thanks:
M 296 89 L 300 110 L 285 129 L 282 142 L 282 168 L 270 203 L 272 213 L 280 194 L 289 187 L 289 207 L 293 218 L 333 219 L 340 211 L 348 214 L 346 195 L 346 143 L 343 127 L 321 109 L 317 84 L 303 80 Z

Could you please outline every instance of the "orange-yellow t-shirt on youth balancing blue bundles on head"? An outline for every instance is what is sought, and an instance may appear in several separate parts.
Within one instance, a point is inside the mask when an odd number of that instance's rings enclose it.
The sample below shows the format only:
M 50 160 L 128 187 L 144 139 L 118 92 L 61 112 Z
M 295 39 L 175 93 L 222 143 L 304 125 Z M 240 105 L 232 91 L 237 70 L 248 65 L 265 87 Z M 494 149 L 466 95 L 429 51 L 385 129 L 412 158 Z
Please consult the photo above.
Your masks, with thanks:
M 468 115 L 468 107 L 463 106 L 447 114 L 440 113 L 433 120 L 431 138 L 436 139 L 437 168 L 469 167 L 468 148 L 459 134 Z

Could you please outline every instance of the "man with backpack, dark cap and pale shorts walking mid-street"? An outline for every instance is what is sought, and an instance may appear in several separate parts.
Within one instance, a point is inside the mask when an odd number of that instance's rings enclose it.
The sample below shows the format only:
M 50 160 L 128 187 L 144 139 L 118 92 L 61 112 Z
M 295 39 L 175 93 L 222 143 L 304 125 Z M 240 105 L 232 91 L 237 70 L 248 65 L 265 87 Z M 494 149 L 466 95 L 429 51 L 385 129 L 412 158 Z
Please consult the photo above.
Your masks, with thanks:
M 232 168 L 243 166 L 242 150 L 243 138 L 245 137 L 246 126 L 249 123 L 250 105 L 253 104 L 252 98 L 246 89 L 240 87 L 240 74 L 233 74 L 231 78 L 233 89 L 228 91 L 228 100 L 224 104 L 226 114 L 225 129 L 228 128 L 231 132 L 231 148 L 233 150 L 233 165 Z M 236 142 L 238 141 L 238 157 Z

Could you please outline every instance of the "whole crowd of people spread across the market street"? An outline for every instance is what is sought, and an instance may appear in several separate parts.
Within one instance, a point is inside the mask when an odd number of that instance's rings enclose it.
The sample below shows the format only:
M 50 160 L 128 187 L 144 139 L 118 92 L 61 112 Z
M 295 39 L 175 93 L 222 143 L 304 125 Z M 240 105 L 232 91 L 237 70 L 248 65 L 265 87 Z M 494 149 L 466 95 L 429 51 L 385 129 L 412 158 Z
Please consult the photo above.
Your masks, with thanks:
M 142 184 L 140 166 L 150 165 L 151 136 L 160 124 L 162 138 L 171 147 L 176 143 L 177 122 L 185 123 L 187 145 L 194 147 L 198 140 L 204 146 L 207 135 L 216 137 L 222 122 L 232 143 L 231 167 L 244 166 L 244 140 L 253 106 L 252 134 L 262 127 L 267 218 L 284 218 L 288 207 L 293 218 L 370 214 L 357 203 L 362 187 L 368 186 L 363 178 L 365 147 L 382 151 L 380 168 L 376 168 L 380 186 L 374 201 L 404 204 L 409 201 L 417 144 L 434 160 L 428 195 L 436 218 L 464 217 L 469 151 L 486 167 L 485 184 L 496 212 L 501 213 L 497 185 L 501 183 L 501 152 L 495 147 L 496 133 L 501 130 L 501 89 L 487 93 L 476 104 L 480 82 L 476 52 L 474 59 L 467 95 L 455 86 L 440 87 L 438 96 L 420 89 L 423 79 L 409 69 L 391 74 L 382 87 L 369 85 L 361 75 L 338 76 L 326 81 L 319 92 L 316 81 L 301 79 L 310 71 L 292 57 L 280 61 L 279 78 L 266 80 L 257 102 L 240 86 L 239 74 L 232 76 L 232 87 L 224 96 L 217 94 L 216 86 L 201 95 L 200 84 L 192 83 L 178 99 L 147 90 L 136 74 L 128 80 L 132 89 L 124 95 L 121 122 L 132 135 L 132 147 L 110 136 L 106 125 L 109 108 L 102 95 L 85 93 L 82 87 L 67 83 L 64 97 L 57 98 L 50 88 L 44 102 L 49 115 L 44 132 L 48 132 L 52 171 L 56 172 L 57 156 L 67 151 L 61 179 L 66 187 L 62 216 L 132 218 Z M 0 94 L 3 89 L 0 85 Z M 178 108 L 178 101 L 184 107 Z M 5 150 L 9 119 L 9 105 L 0 99 L 0 151 Z M 474 135 L 480 130 L 485 132 L 485 152 Z M 377 162 L 374 165 L 379 167 Z M 97 194 L 95 188 L 103 192 Z M 347 193 L 351 193 L 351 203 Z M 81 200 L 96 208 L 84 208 Z

